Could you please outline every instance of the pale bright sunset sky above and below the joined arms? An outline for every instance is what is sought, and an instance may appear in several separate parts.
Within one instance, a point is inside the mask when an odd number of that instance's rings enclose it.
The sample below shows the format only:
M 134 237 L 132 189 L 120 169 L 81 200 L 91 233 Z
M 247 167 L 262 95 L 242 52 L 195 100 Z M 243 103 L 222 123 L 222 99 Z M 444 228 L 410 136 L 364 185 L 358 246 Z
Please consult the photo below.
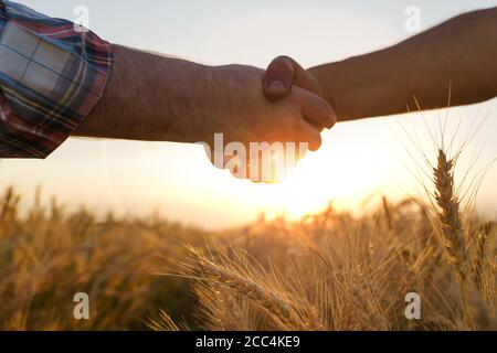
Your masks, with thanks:
M 420 10 L 421 30 L 497 6 L 484 0 L 22 2 L 71 20 L 77 18 L 74 9 L 84 6 L 91 30 L 113 43 L 208 65 L 260 67 L 281 54 L 311 66 L 392 45 L 412 35 L 405 28 L 411 6 Z M 483 170 L 497 157 L 497 139 L 490 135 L 497 129 L 496 101 L 339 124 L 324 133 L 322 148 L 281 184 L 235 180 L 213 168 L 198 146 L 71 138 L 46 160 L 0 161 L 0 188 L 13 184 L 24 196 L 23 207 L 41 185 L 45 200 L 55 195 L 68 210 L 84 204 L 101 214 L 154 212 L 209 228 L 243 224 L 261 212 L 299 217 L 330 200 L 337 208 L 362 210 L 364 200 L 374 203 L 382 194 L 401 199 L 422 190 L 416 156 L 420 150 L 434 156 L 427 129 L 436 135 L 444 119 L 450 132 L 458 131 L 456 142 L 469 140 L 461 180 L 464 168 L 475 174 Z M 479 157 L 475 163 L 473 156 Z M 490 216 L 497 216 L 495 181 L 493 167 L 477 199 L 478 210 Z

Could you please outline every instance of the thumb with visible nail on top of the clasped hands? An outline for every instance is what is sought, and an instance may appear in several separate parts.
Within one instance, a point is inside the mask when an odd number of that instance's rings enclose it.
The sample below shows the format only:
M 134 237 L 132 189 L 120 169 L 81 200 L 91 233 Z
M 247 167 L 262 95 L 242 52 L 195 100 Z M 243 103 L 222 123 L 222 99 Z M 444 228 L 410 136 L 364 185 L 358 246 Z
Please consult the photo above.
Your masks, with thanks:
M 264 95 L 269 100 L 281 100 L 289 94 L 293 85 L 322 95 L 318 81 L 295 60 L 288 56 L 276 57 L 263 77 Z

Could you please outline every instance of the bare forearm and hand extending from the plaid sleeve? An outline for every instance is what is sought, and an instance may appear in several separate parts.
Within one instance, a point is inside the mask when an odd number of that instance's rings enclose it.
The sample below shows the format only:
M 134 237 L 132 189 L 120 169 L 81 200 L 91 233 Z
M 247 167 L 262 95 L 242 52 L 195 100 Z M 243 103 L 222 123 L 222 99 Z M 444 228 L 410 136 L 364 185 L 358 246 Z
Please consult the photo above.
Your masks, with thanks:
M 295 87 L 279 104 L 264 99 L 263 71 L 242 65 L 205 66 L 119 45 L 104 96 L 76 136 L 211 142 L 307 141 L 317 149 L 331 107 Z

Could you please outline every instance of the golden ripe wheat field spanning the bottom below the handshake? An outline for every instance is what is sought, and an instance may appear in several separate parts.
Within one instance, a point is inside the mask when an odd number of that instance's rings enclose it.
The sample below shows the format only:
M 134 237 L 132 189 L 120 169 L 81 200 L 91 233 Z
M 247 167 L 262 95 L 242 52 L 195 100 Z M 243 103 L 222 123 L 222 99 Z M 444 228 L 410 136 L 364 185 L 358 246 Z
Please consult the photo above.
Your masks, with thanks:
M 21 216 L 9 188 L 0 329 L 496 330 L 497 226 L 463 206 L 456 157 L 438 150 L 429 201 L 379 196 L 361 216 L 330 203 L 219 233 L 43 207 L 40 191 Z M 89 320 L 73 317 L 80 291 Z M 410 292 L 420 319 L 405 317 Z

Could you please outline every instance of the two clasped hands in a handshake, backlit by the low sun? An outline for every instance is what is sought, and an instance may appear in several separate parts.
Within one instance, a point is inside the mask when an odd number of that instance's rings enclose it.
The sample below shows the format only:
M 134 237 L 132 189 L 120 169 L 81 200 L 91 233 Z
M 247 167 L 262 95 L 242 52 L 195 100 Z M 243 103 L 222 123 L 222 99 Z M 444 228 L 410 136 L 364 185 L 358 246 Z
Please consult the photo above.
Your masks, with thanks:
M 290 57 L 275 58 L 265 72 L 243 65 L 216 69 L 224 96 L 208 119 L 204 146 L 212 163 L 236 178 L 284 179 L 337 121 L 322 85 Z

